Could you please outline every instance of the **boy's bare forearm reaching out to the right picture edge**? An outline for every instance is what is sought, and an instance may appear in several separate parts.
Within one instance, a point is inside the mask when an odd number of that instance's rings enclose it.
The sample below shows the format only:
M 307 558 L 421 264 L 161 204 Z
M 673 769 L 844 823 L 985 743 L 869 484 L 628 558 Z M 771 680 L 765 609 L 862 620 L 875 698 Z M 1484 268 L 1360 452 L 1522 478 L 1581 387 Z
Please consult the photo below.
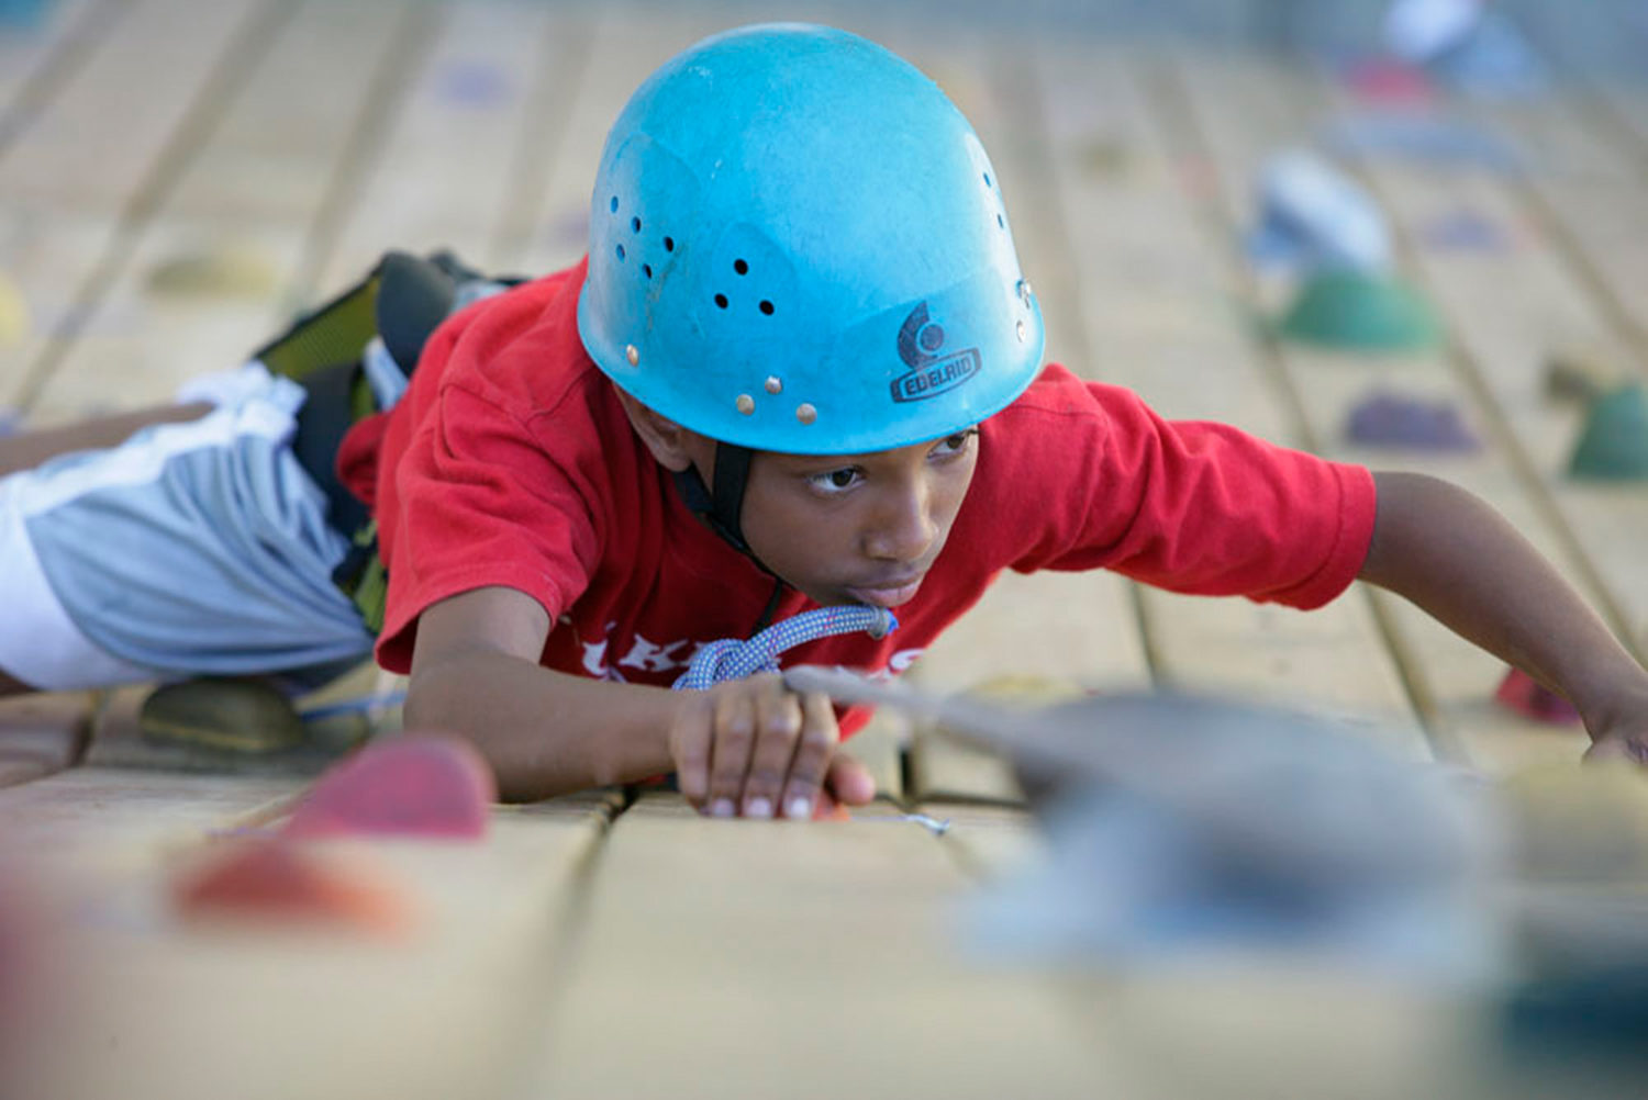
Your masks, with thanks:
M 1374 482 L 1378 519 L 1361 580 L 1567 698 L 1590 731 L 1589 757 L 1648 764 L 1648 672 L 1556 568 L 1457 486 L 1409 473 L 1378 473 Z

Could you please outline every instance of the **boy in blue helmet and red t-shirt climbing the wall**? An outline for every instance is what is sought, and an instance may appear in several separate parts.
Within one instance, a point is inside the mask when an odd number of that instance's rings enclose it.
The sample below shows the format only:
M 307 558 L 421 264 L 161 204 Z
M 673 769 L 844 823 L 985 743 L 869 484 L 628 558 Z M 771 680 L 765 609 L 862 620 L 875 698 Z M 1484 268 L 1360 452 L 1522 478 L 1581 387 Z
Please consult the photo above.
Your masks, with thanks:
M 864 715 L 773 674 L 664 690 L 695 652 L 780 622 L 804 636 L 786 662 L 897 674 L 1002 568 L 1103 566 L 1297 608 L 1360 576 L 1564 693 L 1590 754 L 1648 759 L 1648 674 L 1480 501 L 1165 423 L 1040 352 L 994 170 L 936 86 L 814 26 L 682 53 L 608 137 L 585 262 L 447 321 L 338 451 L 407 725 L 471 738 L 508 797 L 674 771 L 707 813 L 806 817 L 872 797 L 834 753 Z M 292 453 L 303 392 L 242 384 L 112 466 L 0 482 L 13 688 L 372 644 L 330 583 L 349 532 Z M 112 557 L 137 562 L 119 583 Z M 186 586 L 133 596 L 145 558 L 188 560 Z

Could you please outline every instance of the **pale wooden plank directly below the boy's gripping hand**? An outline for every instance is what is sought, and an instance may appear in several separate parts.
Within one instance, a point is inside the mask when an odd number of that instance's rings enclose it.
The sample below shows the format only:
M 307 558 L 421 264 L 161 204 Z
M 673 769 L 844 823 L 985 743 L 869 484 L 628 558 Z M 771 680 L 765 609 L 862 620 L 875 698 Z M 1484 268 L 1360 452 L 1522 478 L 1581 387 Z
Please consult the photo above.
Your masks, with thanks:
M 595 866 L 526 1092 L 598 1092 L 644 1047 L 686 1097 L 882 1095 L 913 1074 L 931 1095 L 1131 1095 L 1055 980 L 969 965 L 943 922 L 966 886 L 901 822 L 643 799 Z

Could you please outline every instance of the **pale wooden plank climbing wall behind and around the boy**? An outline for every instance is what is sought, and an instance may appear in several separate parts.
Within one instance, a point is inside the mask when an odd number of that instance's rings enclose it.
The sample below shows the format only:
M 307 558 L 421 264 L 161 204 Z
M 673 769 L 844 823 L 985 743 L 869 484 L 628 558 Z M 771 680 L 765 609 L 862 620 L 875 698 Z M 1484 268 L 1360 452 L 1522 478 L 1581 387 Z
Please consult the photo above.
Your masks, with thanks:
M 1243 250 L 1266 158 L 1361 109 L 1335 72 L 1241 43 L 1122 43 L 929 7 L 784 15 L 878 38 L 974 120 L 1051 359 L 1170 417 L 1465 484 L 1648 649 L 1648 489 L 1566 476 L 1582 410 L 1549 399 L 1543 374 L 1569 347 L 1648 372 L 1648 91 L 1566 81 L 1536 100 L 1449 105 L 1515 150 L 1515 168 L 1346 161 L 1445 328 L 1434 349 L 1366 357 L 1280 339 L 1267 319 L 1290 288 Z M 1205 7 L 1229 28 L 1262 21 L 1257 2 Z M 165 402 L 389 247 L 526 273 L 574 262 L 630 91 L 697 38 L 770 15 L 639 0 L 44 5 L 33 30 L 0 30 L 0 428 Z M 1439 232 L 1460 217 L 1475 244 Z M 1483 448 L 1351 445 L 1346 417 L 1381 385 L 1455 403 Z M 1111 575 L 1012 575 L 910 680 L 1020 705 L 1220 692 L 1305 706 L 1404 759 L 1485 774 L 1577 761 L 1582 733 L 1491 703 L 1501 675 L 1376 591 L 1299 614 Z M 369 670 L 349 683 L 400 687 Z M 1140 978 L 990 942 L 974 902 L 1037 866 L 1046 840 L 1000 761 L 895 715 L 852 746 L 882 790 L 852 822 L 709 822 L 661 792 L 499 807 L 475 845 L 328 848 L 415 899 L 405 939 L 201 934 L 168 909 L 173 876 L 279 825 L 308 776 L 165 771 L 178 761 L 145 757 L 130 734 L 135 698 L 0 705 L 0 963 L 7 886 L 13 909 L 68 930 L 40 940 L 66 944 L 48 958 L 61 996 L 25 1009 L 38 1095 L 1513 1097 L 1538 1084 L 1483 1087 L 1468 1023 L 1434 990 L 1251 962 Z M 392 703 L 372 713 L 394 723 Z M 7 995 L 0 981 L 0 1011 Z

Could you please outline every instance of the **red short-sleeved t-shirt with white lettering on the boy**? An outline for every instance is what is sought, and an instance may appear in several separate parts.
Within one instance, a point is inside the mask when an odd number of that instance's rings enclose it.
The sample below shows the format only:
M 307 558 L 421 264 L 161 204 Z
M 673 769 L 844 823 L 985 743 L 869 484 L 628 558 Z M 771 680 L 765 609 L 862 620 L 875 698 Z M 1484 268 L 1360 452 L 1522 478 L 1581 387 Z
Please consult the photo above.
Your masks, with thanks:
M 339 469 L 389 566 L 386 669 L 410 665 L 425 608 L 489 585 L 549 611 L 544 665 L 590 677 L 667 685 L 700 644 L 758 624 L 771 578 L 687 510 L 634 435 L 578 343 L 582 283 L 580 263 L 456 315 L 402 402 L 344 440 Z M 1004 568 L 1315 608 L 1361 568 L 1373 517 L 1361 466 L 1165 422 L 1048 366 L 981 426 L 972 486 L 900 627 L 783 660 L 901 672 Z M 776 618 L 812 606 L 786 590 Z

